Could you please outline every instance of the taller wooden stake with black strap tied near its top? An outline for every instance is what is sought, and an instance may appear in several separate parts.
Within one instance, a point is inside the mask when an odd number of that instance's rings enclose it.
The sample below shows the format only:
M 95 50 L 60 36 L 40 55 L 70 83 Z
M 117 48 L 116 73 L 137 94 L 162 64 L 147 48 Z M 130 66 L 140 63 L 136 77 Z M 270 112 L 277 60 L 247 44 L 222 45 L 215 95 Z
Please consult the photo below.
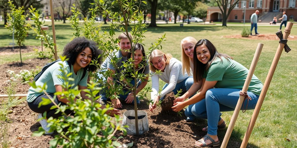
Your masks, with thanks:
M 284 39 L 287 39 L 288 36 L 290 35 L 292 26 L 293 26 L 292 22 L 287 23 L 287 27 L 285 28 L 284 34 L 283 34 Z M 255 126 L 257 117 L 259 115 L 260 109 L 262 107 L 263 101 L 264 101 L 266 93 L 268 91 L 268 88 L 269 88 L 271 79 L 273 77 L 274 71 L 275 71 L 275 69 L 277 67 L 277 63 L 279 62 L 279 58 L 282 55 L 282 51 L 284 49 L 284 46 L 285 46 L 284 44 L 280 43 L 279 46 L 277 47 L 277 52 L 275 53 L 274 59 L 273 59 L 273 61 L 271 63 L 271 66 L 270 66 L 268 75 L 266 77 L 266 80 L 265 80 L 263 89 L 261 91 L 261 94 L 259 96 L 256 108 L 255 108 L 255 110 L 253 112 L 251 120 L 249 121 L 249 126 L 247 127 L 247 132 L 245 133 L 244 139 L 242 140 L 242 143 L 241 143 L 241 146 L 240 146 L 241 148 L 247 147 L 249 137 L 251 136 L 252 130 L 253 130 L 254 126 Z

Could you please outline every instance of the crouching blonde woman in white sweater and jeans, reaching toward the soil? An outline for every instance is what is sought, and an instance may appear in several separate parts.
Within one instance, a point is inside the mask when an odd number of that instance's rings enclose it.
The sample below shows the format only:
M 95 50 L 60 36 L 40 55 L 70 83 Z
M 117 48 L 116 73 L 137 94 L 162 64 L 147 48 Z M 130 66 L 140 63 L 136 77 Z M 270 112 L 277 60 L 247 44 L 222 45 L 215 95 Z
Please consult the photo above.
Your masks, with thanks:
M 182 89 L 183 93 L 189 90 L 189 88 L 194 83 L 193 77 L 189 76 L 187 73 L 183 73 L 181 61 L 173 58 L 170 54 L 165 54 L 160 50 L 154 50 L 149 58 L 150 60 L 150 70 L 152 80 L 152 92 L 151 100 L 153 104 L 149 104 L 149 110 L 151 112 L 157 107 L 159 100 L 170 93 L 177 94 L 177 91 Z M 160 74 L 156 74 L 156 70 L 160 70 Z M 161 93 L 159 94 L 159 78 L 166 82 L 163 86 Z M 182 94 L 183 94 L 182 93 Z

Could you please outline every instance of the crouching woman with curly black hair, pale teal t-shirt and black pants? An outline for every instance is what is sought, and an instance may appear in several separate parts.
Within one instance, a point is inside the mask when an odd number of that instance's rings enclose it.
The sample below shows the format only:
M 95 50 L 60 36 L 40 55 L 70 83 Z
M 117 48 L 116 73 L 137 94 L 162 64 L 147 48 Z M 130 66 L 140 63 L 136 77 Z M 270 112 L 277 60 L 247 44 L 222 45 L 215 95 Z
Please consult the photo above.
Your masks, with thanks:
M 102 51 L 98 50 L 98 47 L 94 41 L 89 41 L 82 37 L 74 38 L 64 47 L 63 50 L 63 56 L 66 56 L 69 60 L 64 62 L 58 61 L 48 67 L 35 83 L 37 86 L 43 86 L 46 83 L 47 94 L 54 98 L 54 93 L 62 91 L 63 89 L 61 85 L 64 83 L 64 80 L 58 78 L 58 75 L 62 76 L 59 65 L 62 63 L 67 69 L 67 72 L 72 73 L 70 77 L 73 78 L 74 81 L 70 82 L 73 84 L 71 88 L 78 86 L 79 90 L 87 89 L 88 71 L 94 72 L 97 69 L 96 66 L 89 64 L 91 60 L 101 61 L 101 58 L 97 58 L 101 53 Z M 70 63 L 70 65 L 68 63 Z M 82 78 L 84 68 L 86 68 L 87 71 L 85 76 Z M 86 92 L 84 91 L 80 91 L 80 95 L 83 99 L 89 99 L 89 97 L 86 96 Z M 61 112 L 56 114 L 56 109 L 51 109 L 51 107 L 54 106 L 53 103 L 38 107 L 39 103 L 42 101 L 42 98 L 49 99 L 48 96 L 46 96 L 44 93 L 40 93 L 37 89 L 34 89 L 33 87 L 29 88 L 27 94 L 27 103 L 33 112 L 39 113 L 37 117 L 38 119 L 42 118 L 42 114 L 44 112 L 47 112 L 45 117 L 46 119 L 50 117 L 58 118 L 62 115 Z M 54 102 L 56 104 L 60 103 L 61 105 L 66 105 L 69 103 L 69 100 L 67 98 L 61 99 L 61 96 L 57 95 L 54 99 Z M 96 102 L 99 103 L 98 101 Z M 101 108 L 105 108 L 105 105 L 102 105 Z M 71 112 L 71 110 L 65 110 L 67 115 L 71 114 Z M 110 113 L 112 116 L 113 114 L 119 115 L 119 110 L 113 109 L 111 112 L 107 113 Z M 46 119 L 42 119 L 39 122 L 42 128 L 45 130 L 45 134 L 52 134 L 53 131 L 49 132 L 50 127 L 48 127 Z

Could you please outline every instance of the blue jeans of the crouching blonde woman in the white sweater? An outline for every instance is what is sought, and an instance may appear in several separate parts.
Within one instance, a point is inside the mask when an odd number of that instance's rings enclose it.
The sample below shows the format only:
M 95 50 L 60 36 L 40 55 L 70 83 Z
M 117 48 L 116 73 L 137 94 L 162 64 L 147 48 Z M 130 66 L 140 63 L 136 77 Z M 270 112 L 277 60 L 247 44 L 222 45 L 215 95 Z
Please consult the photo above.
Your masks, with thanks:
M 193 85 L 193 83 L 194 83 L 194 79 L 192 76 L 190 76 L 190 77 L 184 79 L 184 81 L 177 83 L 175 88 L 173 89 L 173 93 L 177 94 L 177 91 L 182 90 L 181 95 L 183 95 L 185 92 L 187 92 L 190 89 L 190 87 Z M 162 90 L 164 90 L 167 86 L 168 86 L 168 83 L 166 83 L 163 86 Z M 192 96 L 194 96 L 194 95 L 192 95 Z M 192 96 L 190 96 L 189 98 L 191 98 Z M 160 100 L 163 100 L 163 99 L 164 99 L 164 97 L 160 98 Z

